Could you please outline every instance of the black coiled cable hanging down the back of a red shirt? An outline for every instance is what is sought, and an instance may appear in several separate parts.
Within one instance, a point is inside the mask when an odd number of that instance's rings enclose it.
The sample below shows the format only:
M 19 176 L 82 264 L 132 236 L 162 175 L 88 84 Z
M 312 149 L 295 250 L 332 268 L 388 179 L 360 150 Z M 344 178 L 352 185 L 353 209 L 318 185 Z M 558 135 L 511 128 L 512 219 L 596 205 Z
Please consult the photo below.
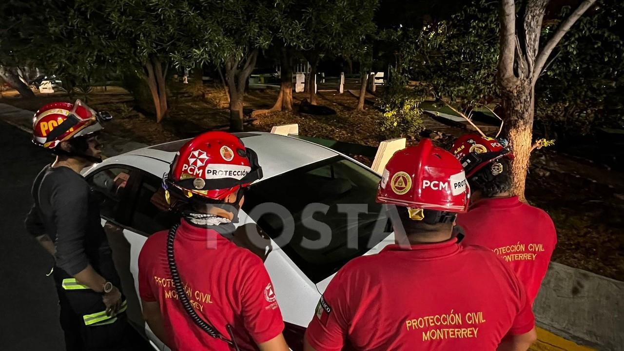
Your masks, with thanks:
M 208 322 L 203 320 L 202 317 L 200 317 L 197 314 L 197 312 L 195 312 L 195 309 L 193 309 L 193 305 L 191 305 L 191 302 L 188 299 L 187 293 L 184 291 L 184 288 L 182 287 L 182 280 L 180 279 L 178 267 L 175 264 L 175 254 L 173 253 L 173 242 L 175 240 L 175 233 L 177 232 L 179 226 L 180 224 L 173 225 L 173 227 L 169 229 L 169 233 L 167 235 L 167 261 L 169 263 L 169 270 L 171 272 L 171 279 L 173 280 L 173 286 L 175 286 L 175 291 L 178 294 L 178 300 L 182 302 L 182 307 L 184 307 L 184 310 L 187 311 L 188 316 L 191 317 L 193 322 L 198 327 L 200 327 L 203 331 L 205 331 L 211 337 L 215 339 L 223 340 L 224 342 L 227 342 L 228 344 L 230 344 L 230 346 L 232 346 L 236 351 L 240 351 L 240 349 L 238 349 L 238 345 L 236 345 L 236 342 L 233 341 L 232 326 L 230 326 L 229 324 L 226 326 L 228 329 L 228 333 L 230 334 L 230 337 L 232 337 L 232 340 L 228 340 L 225 337 L 223 337 L 223 335 L 217 329 L 215 329 L 215 327 L 208 324 Z

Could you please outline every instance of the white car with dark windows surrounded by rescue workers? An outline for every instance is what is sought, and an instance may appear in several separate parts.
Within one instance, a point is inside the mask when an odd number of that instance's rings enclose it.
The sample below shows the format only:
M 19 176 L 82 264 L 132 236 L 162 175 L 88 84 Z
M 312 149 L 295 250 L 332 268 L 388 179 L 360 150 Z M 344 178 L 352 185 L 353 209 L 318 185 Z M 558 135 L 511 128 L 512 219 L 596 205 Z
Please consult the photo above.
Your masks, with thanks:
M 262 132 L 236 135 L 257 152 L 264 174 L 246 192 L 238 225 L 257 223 L 271 237 L 273 251 L 265 265 L 286 323 L 286 340 L 293 350 L 299 350 L 319 297 L 338 269 L 354 257 L 379 252 L 394 242 L 385 207 L 375 202 L 380 176 L 344 154 L 295 137 Z M 179 220 L 176 214 L 164 209 L 162 190 L 158 190 L 175 152 L 185 142 L 127 152 L 85 172 L 94 190 L 102 194 L 102 224 L 127 296 L 130 322 L 145 331 L 157 350 L 167 348 L 141 317 L 137 297 L 138 259 L 150 234 L 168 229 Z M 280 237 L 285 225 L 279 216 L 266 214 L 252 218 L 249 215 L 254 215 L 256 205 L 267 202 L 288 210 L 290 226 L 294 225 L 290 228 L 294 229 L 294 235 L 288 242 Z M 304 210 L 311 203 L 325 204 L 328 208 L 324 214 L 314 213 L 312 219 L 313 214 Z M 349 204 L 359 204 L 359 209 L 368 207 L 368 211 L 347 215 L 344 212 Z M 322 249 L 311 250 L 301 245 L 302 237 L 316 240 L 319 236 L 318 231 L 309 228 L 311 220 L 331 228 L 331 240 Z

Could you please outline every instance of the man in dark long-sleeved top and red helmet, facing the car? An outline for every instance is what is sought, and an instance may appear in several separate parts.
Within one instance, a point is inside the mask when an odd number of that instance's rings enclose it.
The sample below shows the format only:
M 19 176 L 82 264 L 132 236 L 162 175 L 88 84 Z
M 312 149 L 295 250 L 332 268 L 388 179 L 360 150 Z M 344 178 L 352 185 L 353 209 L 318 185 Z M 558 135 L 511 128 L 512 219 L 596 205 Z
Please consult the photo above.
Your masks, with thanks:
M 81 101 L 55 102 L 35 113 L 33 142 L 57 157 L 32 184 L 27 231 L 54 256 L 54 282 L 67 350 L 129 348 L 126 303 L 117 288 L 99 205 L 80 175 L 101 161 L 99 114 Z

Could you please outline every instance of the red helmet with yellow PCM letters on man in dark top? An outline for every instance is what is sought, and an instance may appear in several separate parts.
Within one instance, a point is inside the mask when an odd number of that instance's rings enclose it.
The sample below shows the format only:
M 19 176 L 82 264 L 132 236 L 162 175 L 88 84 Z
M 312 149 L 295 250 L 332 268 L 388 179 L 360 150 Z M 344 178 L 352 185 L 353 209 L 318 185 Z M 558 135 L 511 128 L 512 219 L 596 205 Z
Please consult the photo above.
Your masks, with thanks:
M 80 100 L 52 102 L 35 112 L 32 122 L 32 141 L 54 149 L 60 142 L 101 131 L 99 121 L 110 119 L 109 114 L 95 112 Z

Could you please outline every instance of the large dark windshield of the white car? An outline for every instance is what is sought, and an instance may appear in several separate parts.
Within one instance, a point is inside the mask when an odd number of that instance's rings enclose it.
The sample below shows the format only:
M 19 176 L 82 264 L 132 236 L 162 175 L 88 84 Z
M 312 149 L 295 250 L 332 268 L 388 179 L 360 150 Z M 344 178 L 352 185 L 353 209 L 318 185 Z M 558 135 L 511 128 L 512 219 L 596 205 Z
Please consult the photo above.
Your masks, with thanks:
M 375 202 L 379 179 L 336 156 L 253 184 L 243 210 L 318 283 L 389 234 L 385 207 Z M 276 207 L 285 214 L 266 213 Z M 291 240 L 284 242 L 283 230 L 293 233 Z

